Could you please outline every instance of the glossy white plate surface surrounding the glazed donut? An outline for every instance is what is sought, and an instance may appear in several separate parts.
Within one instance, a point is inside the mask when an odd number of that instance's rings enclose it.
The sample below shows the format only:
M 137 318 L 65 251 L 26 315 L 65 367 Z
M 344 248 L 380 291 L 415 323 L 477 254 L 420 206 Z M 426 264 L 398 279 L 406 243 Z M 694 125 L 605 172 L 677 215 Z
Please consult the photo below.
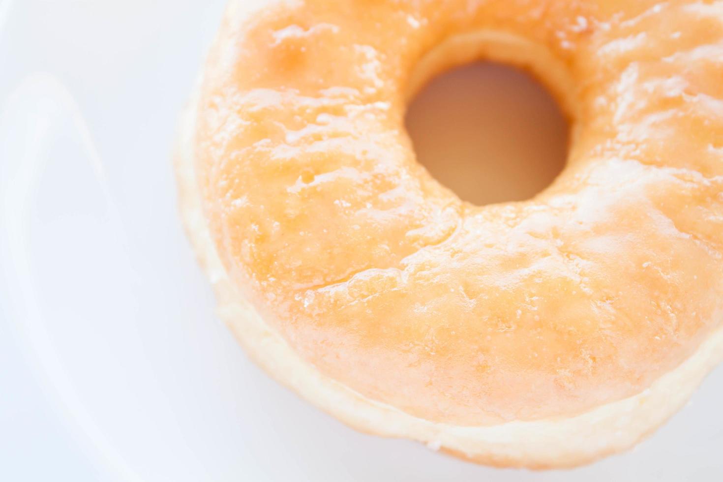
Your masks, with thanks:
M 723 369 L 632 453 L 495 470 L 347 429 L 213 317 L 176 117 L 223 0 L 0 0 L 0 481 L 723 480 Z

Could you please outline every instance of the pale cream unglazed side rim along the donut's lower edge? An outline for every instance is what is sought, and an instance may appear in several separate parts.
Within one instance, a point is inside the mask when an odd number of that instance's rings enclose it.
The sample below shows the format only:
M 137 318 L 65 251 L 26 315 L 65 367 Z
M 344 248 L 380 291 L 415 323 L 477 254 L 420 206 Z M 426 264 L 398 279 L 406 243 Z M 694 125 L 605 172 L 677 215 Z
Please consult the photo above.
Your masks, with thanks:
M 198 90 L 198 89 L 196 89 Z M 317 408 L 367 434 L 414 439 L 433 450 L 495 467 L 572 468 L 630 449 L 680 410 L 723 360 L 719 326 L 687 360 L 633 397 L 566 418 L 453 426 L 411 416 L 324 376 L 266 324 L 228 277 L 202 210 L 194 173 L 196 98 L 181 115 L 173 155 L 184 229 L 213 284 L 217 314 L 257 366 Z

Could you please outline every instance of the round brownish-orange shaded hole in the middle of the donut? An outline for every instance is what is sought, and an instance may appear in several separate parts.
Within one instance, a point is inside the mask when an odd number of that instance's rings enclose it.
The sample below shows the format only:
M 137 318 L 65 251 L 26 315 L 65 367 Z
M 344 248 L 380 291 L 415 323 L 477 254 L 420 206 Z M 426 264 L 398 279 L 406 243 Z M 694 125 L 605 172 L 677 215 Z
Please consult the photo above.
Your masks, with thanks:
M 562 109 L 547 88 L 513 66 L 477 62 L 431 79 L 405 121 L 419 163 L 475 205 L 534 197 L 567 158 Z

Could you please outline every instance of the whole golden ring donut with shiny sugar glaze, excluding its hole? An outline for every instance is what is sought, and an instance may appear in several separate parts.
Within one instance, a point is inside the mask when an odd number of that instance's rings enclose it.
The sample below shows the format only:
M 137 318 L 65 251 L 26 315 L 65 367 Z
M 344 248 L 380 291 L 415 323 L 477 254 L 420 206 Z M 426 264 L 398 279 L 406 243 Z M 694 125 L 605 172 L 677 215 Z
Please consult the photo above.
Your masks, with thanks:
M 409 100 L 480 59 L 570 118 L 534 199 L 471 205 L 416 162 Z M 235 0 L 182 122 L 181 212 L 221 317 L 307 400 L 476 462 L 578 465 L 723 356 L 721 79 L 721 1 Z

